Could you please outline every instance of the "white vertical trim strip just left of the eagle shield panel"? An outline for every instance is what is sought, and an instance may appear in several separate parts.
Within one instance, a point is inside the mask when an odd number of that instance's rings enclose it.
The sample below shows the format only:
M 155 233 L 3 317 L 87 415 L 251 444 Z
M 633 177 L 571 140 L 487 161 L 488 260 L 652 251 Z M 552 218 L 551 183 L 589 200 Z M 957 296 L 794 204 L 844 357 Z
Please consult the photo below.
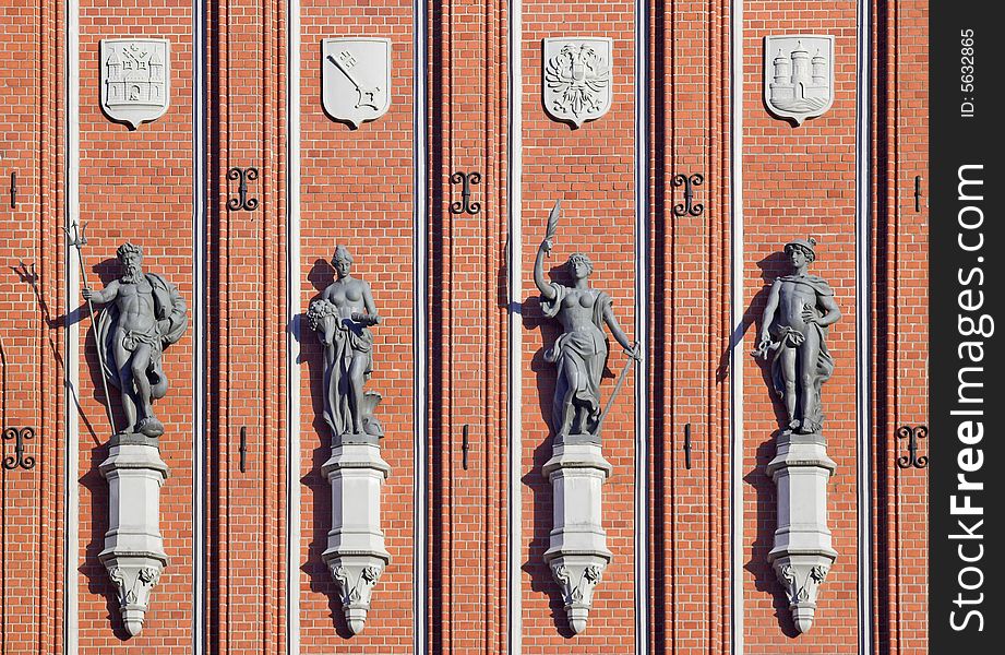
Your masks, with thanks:
M 524 78 L 523 51 L 524 43 L 524 2 L 510 0 L 510 128 L 509 128 L 509 165 L 507 165 L 507 239 L 506 239 L 506 271 L 510 283 L 510 334 L 507 350 L 506 377 L 506 429 L 509 431 L 509 467 L 510 480 L 507 491 L 509 503 L 509 535 L 506 538 L 506 630 L 507 652 L 510 655 L 521 655 L 524 647 L 523 623 L 523 582 L 521 574 L 521 552 L 524 544 L 523 532 L 523 490 L 521 483 L 523 473 L 523 370 L 524 370 L 524 321 L 519 308 L 523 301 L 522 265 L 524 238 L 523 238 L 523 183 L 524 183 Z

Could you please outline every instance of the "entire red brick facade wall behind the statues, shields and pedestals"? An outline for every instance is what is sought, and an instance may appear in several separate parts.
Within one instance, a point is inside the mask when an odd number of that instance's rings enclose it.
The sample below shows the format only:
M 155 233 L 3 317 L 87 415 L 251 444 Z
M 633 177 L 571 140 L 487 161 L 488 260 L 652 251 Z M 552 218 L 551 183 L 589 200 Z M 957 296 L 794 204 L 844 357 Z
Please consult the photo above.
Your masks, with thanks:
M 128 9 L 81 2 L 81 219 L 91 222 L 87 276 L 100 286 L 118 274 L 115 249 L 142 243 L 145 265 L 179 286 L 190 318 L 198 306 L 192 258 L 206 250 L 208 436 L 208 648 L 218 653 L 286 650 L 286 16 L 279 0 L 211 3 L 206 24 L 210 78 L 206 117 L 208 225 L 192 233 L 192 9 L 180 0 L 143 0 Z M 429 524 L 428 594 L 431 652 L 505 651 L 506 607 L 506 3 L 477 0 L 429 7 Z M 554 200 L 563 217 L 557 269 L 573 251 L 596 264 L 591 285 L 608 291 L 635 338 L 633 3 L 525 0 L 523 57 L 523 438 L 518 491 L 523 652 L 630 653 L 636 604 L 634 540 L 634 381 L 605 424 L 605 456 L 614 474 L 603 486 L 603 526 L 613 560 L 597 587 L 586 632 L 567 630 L 558 585 L 542 561 L 552 525 L 552 491 L 541 475 L 551 454 L 554 368 L 542 352 L 558 335 L 537 301 L 531 266 Z M 8 270 L 0 276 L 4 426 L 33 426 L 32 471 L 2 471 L 2 624 L 4 653 L 58 652 L 62 644 L 64 529 L 62 308 L 68 271 L 59 226 L 65 146 L 61 122 L 62 3 L 23 8 L 0 0 L 10 28 L 0 39 L 0 237 L 4 266 L 36 264 L 37 290 Z M 856 653 L 857 480 L 854 406 L 854 46 L 856 5 L 806 9 L 745 4 L 744 288 L 749 303 L 741 356 L 753 349 L 766 285 L 785 271 L 778 253 L 793 237 L 819 239 L 811 271 L 827 278 L 844 318 L 828 345 L 837 370 L 824 386 L 825 434 L 838 469 L 829 485 L 829 526 L 837 562 L 821 590 L 813 630 L 793 635 L 788 603 L 766 562 L 775 520 L 775 486 L 764 475 L 774 454 L 777 407 L 763 369 L 744 366 L 743 624 L 745 653 Z M 926 473 L 900 469 L 894 430 L 926 422 L 928 213 L 913 211 L 913 178 L 926 151 L 924 2 L 877 10 L 874 165 L 874 425 L 877 616 L 880 653 L 926 652 L 924 562 Z M 368 281 L 384 322 L 374 327 L 374 372 L 368 389 L 383 395 L 382 524 L 391 563 L 374 590 L 366 630 L 348 636 L 337 591 L 321 561 L 331 527 L 331 491 L 320 469 L 328 456 L 321 348 L 301 323 L 298 569 L 300 650 L 309 653 L 410 653 L 414 617 L 412 281 L 415 223 L 411 2 L 363 0 L 338 7 L 303 0 L 301 9 L 301 295 L 295 311 L 331 283 L 336 243 L 352 251 L 354 274 Z M 655 2 L 650 22 L 651 371 L 649 439 L 649 641 L 655 653 L 721 653 L 729 648 L 729 8 L 720 2 Z M 763 37 L 833 34 L 836 100 L 823 117 L 793 128 L 763 106 Z M 321 106 L 320 41 L 334 36 L 393 41 L 391 109 L 349 129 Z M 171 106 L 130 131 L 98 107 L 98 41 L 148 36 L 171 40 Z M 541 39 L 610 36 L 613 103 L 577 130 L 541 106 Z M 200 153 L 199 155 L 201 155 Z M 229 212 L 231 166 L 254 166 L 254 212 Z M 19 204 L 4 193 L 12 170 Z M 481 212 L 454 215 L 460 199 L 452 172 L 477 170 Z M 697 217 L 675 217 L 675 174 L 702 174 Z M 926 187 L 926 184 L 925 184 Z M 71 260 L 75 265 L 75 260 Z M 99 283 L 100 281 L 100 283 Z M 79 299 L 71 305 L 77 307 Z M 115 587 L 97 553 L 107 529 L 108 487 L 97 467 L 110 436 L 86 310 L 80 380 L 80 560 L 76 594 L 84 653 L 175 653 L 191 646 L 195 564 L 192 499 L 193 333 L 165 354 L 171 391 L 156 408 L 167 432 L 161 454 L 171 477 L 161 492 L 161 532 L 170 564 L 152 598 L 143 633 L 124 641 Z M 888 329 L 884 326 L 889 326 Z M 606 401 L 624 365 L 611 340 Z M 115 394 L 116 392 L 112 391 Z M 119 406 L 118 397 L 112 404 Z M 121 416 L 118 415 L 119 420 Z M 693 467 L 682 450 L 691 424 Z M 464 427 L 469 465 L 462 466 Z M 239 434 L 248 434 L 248 468 L 239 471 Z M 4 443 L 4 455 L 13 453 Z M 924 454 L 924 445 L 922 446 Z M 39 555 L 40 553 L 40 555 Z M 31 565 L 25 565 L 31 562 Z

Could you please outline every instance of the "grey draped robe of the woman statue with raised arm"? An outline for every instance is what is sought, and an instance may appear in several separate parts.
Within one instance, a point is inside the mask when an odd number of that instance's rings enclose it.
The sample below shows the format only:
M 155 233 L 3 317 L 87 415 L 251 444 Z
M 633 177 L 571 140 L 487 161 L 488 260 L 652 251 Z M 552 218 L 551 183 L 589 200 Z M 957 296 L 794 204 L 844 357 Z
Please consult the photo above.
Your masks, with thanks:
M 569 287 L 557 283 L 551 284 L 554 299 L 541 298 L 541 309 L 545 315 L 553 319 L 562 311 L 562 300 L 569 293 Z M 558 379 L 554 390 L 552 406 L 552 426 L 555 433 L 562 427 L 562 417 L 565 414 L 565 400 L 570 392 L 570 371 L 575 370 L 577 384 L 571 390 L 570 402 L 574 405 L 586 405 L 589 408 L 588 426 L 590 432 L 596 429 L 600 419 L 600 378 L 607 362 L 607 337 L 603 334 L 603 313 L 611 307 L 611 297 L 606 293 L 589 289 L 594 296 L 593 327 L 585 331 L 565 332 L 555 340 L 554 345 L 545 352 L 545 360 L 558 365 Z

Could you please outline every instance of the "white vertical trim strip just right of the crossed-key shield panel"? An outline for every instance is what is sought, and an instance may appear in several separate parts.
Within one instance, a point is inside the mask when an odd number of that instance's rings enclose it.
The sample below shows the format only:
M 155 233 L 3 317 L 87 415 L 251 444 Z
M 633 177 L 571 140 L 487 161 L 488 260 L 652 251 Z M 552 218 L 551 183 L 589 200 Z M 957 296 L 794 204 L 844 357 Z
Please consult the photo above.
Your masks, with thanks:
M 426 0 L 414 0 L 415 19 L 412 40 L 412 285 L 414 285 L 414 324 L 412 324 L 412 362 L 415 383 L 412 389 L 412 416 L 415 421 L 415 480 L 414 513 L 415 538 L 412 543 L 412 636 L 415 655 L 426 654 L 426 624 L 429 616 L 429 590 L 426 583 L 426 443 L 428 439 L 427 382 L 429 381 L 427 361 L 427 317 L 429 307 L 429 284 L 427 282 L 426 258 L 429 252 L 427 231 L 429 228 L 429 206 L 427 199 L 426 160 L 426 71 L 428 64 L 426 34 Z

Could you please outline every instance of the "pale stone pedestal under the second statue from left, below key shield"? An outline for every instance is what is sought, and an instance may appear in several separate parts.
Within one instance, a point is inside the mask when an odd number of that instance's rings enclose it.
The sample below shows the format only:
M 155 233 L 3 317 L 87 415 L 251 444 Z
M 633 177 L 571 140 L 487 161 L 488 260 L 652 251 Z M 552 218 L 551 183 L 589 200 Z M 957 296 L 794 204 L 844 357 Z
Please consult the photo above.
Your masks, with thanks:
M 391 467 L 381 458 L 378 437 L 343 434 L 321 472 L 332 485 L 332 529 L 322 558 L 338 585 L 346 624 L 359 634 L 391 559 L 381 531 L 381 486 Z

